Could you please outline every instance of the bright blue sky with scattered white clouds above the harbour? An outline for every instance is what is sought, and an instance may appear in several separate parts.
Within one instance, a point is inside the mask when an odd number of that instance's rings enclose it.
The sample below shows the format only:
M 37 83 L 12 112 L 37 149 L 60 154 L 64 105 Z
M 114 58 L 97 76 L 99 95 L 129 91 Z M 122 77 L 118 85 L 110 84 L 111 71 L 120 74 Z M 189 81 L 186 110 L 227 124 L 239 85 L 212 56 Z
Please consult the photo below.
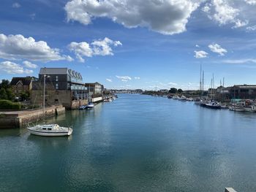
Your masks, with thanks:
M 256 0 L 1 0 L 0 79 L 68 67 L 105 88 L 256 84 Z

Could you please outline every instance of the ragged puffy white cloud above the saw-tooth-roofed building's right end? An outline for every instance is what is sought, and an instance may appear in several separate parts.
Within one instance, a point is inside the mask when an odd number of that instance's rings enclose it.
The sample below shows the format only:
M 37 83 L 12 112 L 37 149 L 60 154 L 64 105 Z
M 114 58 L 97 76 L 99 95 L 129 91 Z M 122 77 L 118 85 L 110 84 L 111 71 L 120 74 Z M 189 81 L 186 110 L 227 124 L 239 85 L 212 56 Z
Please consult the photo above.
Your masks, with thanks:
M 78 61 L 84 62 L 85 59 L 83 57 L 92 57 L 93 55 L 113 55 L 113 50 L 111 46 L 117 47 L 118 45 L 122 45 L 119 41 L 113 41 L 108 37 L 105 39 L 96 40 L 89 44 L 88 42 L 71 42 L 68 47 L 69 50 L 75 53 Z

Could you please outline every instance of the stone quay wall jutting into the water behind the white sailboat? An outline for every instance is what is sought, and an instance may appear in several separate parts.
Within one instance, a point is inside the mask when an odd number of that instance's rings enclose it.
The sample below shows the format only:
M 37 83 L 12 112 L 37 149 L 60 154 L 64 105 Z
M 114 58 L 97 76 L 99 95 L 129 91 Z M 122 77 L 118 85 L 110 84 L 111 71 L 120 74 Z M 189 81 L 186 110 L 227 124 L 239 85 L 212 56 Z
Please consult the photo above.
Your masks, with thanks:
M 64 112 L 65 107 L 62 105 L 45 107 L 45 118 L 60 115 Z M 42 120 L 43 117 L 43 109 L 0 112 L 0 128 L 20 128 L 27 123 Z

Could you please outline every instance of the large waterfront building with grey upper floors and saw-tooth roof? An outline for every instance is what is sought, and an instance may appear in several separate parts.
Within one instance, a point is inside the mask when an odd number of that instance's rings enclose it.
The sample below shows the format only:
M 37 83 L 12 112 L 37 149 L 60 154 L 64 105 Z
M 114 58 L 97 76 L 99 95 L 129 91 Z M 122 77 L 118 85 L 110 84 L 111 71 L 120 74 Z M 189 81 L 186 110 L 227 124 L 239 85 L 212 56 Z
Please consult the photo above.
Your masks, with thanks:
M 42 85 L 46 75 L 45 103 L 62 104 L 67 109 L 76 109 L 87 104 L 87 88 L 79 72 L 67 68 L 41 68 L 37 82 L 31 91 L 31 102 L 42 104 Z

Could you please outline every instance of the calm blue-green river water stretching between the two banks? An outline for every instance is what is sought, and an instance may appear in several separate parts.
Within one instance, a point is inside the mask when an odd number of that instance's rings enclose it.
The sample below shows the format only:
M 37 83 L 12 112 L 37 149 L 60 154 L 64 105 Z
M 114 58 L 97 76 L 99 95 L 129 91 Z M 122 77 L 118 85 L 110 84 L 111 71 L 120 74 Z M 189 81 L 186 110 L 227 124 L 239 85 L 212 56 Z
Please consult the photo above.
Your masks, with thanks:
M 0 191 L 256 191 L 256 114 L 119 95 L 71 137 L 0 130 Z

